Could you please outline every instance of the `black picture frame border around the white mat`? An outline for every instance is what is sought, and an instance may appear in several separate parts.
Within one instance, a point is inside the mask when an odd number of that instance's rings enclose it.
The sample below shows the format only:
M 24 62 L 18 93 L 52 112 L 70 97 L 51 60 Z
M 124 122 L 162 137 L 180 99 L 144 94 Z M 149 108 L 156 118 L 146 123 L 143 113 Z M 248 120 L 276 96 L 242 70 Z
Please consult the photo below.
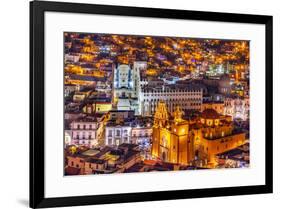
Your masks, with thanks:
M 170 18 L 265 25 L 266 37 L 266 179 L 265 185 L 45 198 L 44 193 L 44 13 L 46 11 L 148 18 Z M 273 17 L 79 3 L 30 2 L 30 207 L 60 207 L 273 192 Z

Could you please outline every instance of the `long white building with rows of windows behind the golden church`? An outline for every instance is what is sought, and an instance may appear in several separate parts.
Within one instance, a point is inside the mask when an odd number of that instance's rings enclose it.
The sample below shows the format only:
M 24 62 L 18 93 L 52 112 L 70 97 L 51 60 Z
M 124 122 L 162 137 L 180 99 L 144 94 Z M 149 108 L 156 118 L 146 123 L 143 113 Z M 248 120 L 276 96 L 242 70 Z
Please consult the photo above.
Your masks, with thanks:
M 169 112 L 174 112 L 177 105 L 182 110 L 201 110 L 203 88 L 199 85 L 163 85 L 162 87 L 145 86 L 140 93 L 140 112 L 153 115 L 159 101 L 164 101 Z

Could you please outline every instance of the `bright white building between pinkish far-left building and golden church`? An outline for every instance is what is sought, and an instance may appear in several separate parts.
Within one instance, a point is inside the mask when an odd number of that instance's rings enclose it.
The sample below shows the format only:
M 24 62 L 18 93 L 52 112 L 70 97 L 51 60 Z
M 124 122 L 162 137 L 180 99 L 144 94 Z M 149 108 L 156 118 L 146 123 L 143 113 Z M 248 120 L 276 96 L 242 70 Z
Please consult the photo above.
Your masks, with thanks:
M 129 124 L 108 123 L 105 128 L 105 145 L 118 146 L 122 143 L 132 143 L 131 131 Z

